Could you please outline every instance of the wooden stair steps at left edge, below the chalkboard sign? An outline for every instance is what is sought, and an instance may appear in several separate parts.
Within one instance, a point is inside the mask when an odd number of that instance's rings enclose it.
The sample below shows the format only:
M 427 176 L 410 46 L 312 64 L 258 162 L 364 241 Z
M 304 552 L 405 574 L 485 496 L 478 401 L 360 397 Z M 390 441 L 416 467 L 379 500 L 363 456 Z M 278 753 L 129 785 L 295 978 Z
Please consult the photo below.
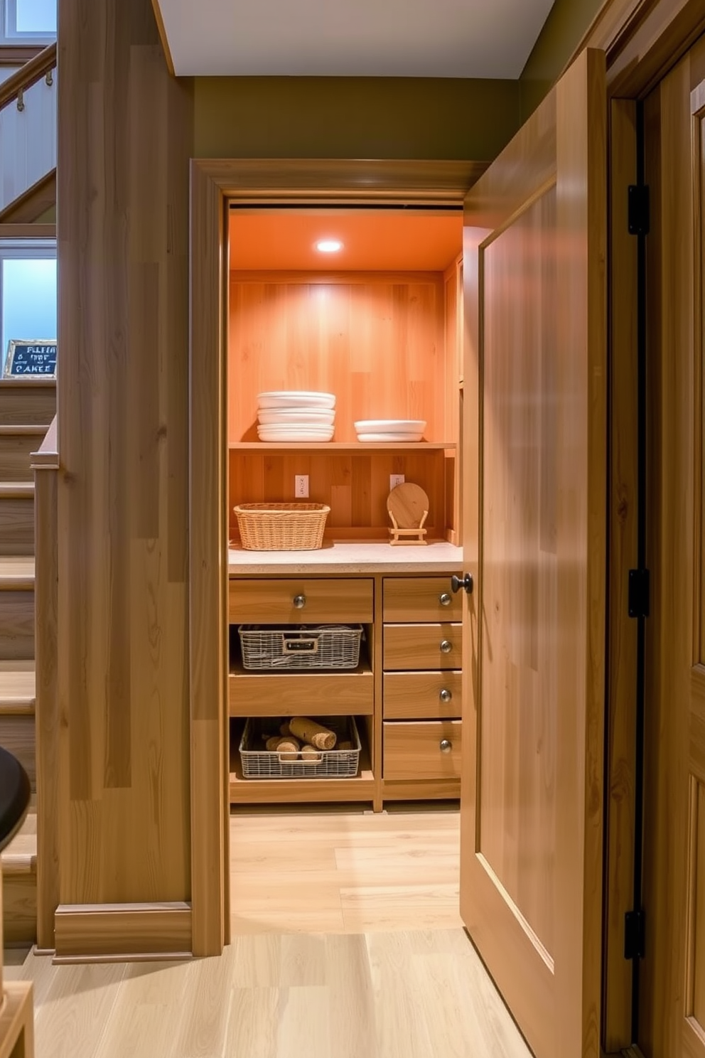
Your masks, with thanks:
M 56 412 L 56 383 L 0 380 L 0 745 L 19 759 L 36 794 L 34 480 L 31 453 Z M 34 808 L 2 855 L 6 945 L 37 929 Z

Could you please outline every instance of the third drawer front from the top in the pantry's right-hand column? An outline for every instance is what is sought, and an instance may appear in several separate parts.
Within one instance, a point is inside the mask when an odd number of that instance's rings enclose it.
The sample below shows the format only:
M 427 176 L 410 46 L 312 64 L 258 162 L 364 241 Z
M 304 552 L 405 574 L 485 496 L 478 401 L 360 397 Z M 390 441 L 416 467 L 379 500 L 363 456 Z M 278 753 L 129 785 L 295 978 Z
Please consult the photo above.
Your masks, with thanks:
M 386 720 L 442 719 L 463 712 L 462 673 L 386 672 L 383 716 Z

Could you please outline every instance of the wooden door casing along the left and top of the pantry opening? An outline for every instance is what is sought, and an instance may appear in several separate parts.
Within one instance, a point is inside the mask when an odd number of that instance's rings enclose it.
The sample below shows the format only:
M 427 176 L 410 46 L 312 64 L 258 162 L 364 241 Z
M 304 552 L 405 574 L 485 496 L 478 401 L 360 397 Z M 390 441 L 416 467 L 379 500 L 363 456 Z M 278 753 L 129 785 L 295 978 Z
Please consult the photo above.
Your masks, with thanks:
M 227 732 L 227 211 L 385 202 L 457 205 L 484 162 L 191 161 L 189 654 L 191 923 L 194 955 L 229 942 Z

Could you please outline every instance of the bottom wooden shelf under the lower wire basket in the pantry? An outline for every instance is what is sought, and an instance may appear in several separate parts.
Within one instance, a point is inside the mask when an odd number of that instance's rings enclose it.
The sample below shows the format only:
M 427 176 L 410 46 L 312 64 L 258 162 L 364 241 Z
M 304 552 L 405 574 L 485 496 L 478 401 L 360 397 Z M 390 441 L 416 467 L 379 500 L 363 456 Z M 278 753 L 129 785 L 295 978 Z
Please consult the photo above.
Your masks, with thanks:
M 372 801 L 374 798 L 374 776 L 363 730 L 359 768 L 354 779 L 243 779 L 238 751 L 241 725 L 238 725 L 237 731 L 237 738 L 230 737 L 230 804 L 354 802 Z

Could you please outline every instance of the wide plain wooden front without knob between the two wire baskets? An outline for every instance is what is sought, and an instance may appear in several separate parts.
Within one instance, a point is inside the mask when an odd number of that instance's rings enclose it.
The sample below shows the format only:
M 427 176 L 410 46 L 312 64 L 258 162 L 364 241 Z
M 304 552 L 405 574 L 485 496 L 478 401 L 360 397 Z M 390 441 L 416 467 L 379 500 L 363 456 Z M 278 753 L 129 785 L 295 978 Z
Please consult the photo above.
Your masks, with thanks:
M 230 676 L 230 716 L 371 716 L 374 678 L 366 673 Z

